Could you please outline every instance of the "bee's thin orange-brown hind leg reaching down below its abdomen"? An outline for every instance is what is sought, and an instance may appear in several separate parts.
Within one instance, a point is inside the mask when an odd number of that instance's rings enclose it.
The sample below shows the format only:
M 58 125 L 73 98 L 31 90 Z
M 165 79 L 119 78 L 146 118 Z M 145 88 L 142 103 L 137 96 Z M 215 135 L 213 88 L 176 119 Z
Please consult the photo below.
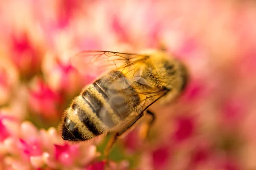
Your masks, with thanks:
M 112 136 L 112 138 L 108 141 L 107 147 L 105 148 L 105 151 L 104 151 L 104 155 L 105 155 L 105 158 L 106 158 L 107 162 L 108 162 L 109 153 L 110 153 L 110 151 L 113 147 L 113 144 L 116 142 L 117 137 L 121 136 L 126 130 L 128 130 L 130 127 L 132 127 L 132 125 L 134 125 L 134 123 L 136 123 L 137 120 L 139 120 L 142 116 L 143 116 L 143 112 L 140 113 L 138 116 L 134 117 L 134 119 L 132 119 L 130 122 L 128 122 L 127 126 L 125 126 L 119 132 L 115 133 Z

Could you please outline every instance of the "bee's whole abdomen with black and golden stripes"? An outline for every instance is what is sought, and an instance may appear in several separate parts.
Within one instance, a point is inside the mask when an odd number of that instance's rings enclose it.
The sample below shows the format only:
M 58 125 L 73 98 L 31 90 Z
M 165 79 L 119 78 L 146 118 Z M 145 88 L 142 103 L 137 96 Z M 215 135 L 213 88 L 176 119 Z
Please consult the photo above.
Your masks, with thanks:
M 62 138 L 92 139 L 125 120 L 140 104 L 140 96 L 124 74 L 113 71 L 89 85 L 67 111 Z

